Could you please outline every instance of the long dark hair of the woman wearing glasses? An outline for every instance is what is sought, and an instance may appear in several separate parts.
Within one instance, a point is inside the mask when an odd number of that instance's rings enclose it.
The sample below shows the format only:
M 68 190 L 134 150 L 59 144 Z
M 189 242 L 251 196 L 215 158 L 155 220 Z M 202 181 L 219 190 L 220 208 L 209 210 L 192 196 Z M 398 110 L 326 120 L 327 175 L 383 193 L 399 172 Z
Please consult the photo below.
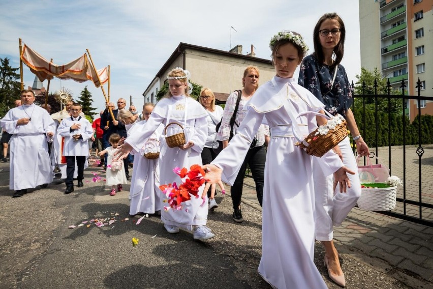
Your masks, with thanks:
M 320 44 L 319 30 L 320 30 L 320 25 L 322 25 L 323 21 L 325 21 L 326 19 L 337 20 L 338 24 L 340 25 L 340 29 L 341 29 L 340 41 L 334 47 L 335 61 L 330 66 L 330 68 L 332 69 L 336 65 L 338 65 L 343 59 L 344 41 L 346 38 L 346 28 L 344 26 L 344 22 L 343 22 L 342 18 L 340 18 L 340 16 L 338 16 L 337 13 L 323 14 L 323 16 L 320 17 L 319 21 L 317 21 L 316 27 L 314 27 L 314 32 L 313 32 L 313 40 L 314 40 L 314 53 L 313 53 L 313 55 L 314 55 L 314 57 L 316 57 L 316 59 L 318 60 L 318 62 L 320 64 L 323 64 L 325 62 L 325 57 L 323 55 L 322 45 Z

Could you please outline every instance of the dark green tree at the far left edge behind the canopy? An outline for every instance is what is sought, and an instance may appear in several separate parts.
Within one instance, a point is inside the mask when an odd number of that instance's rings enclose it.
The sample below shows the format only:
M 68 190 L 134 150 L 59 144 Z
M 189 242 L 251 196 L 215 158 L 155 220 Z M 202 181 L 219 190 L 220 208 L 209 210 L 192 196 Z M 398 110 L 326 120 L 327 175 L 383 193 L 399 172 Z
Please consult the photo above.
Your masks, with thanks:
M 8 57 L 0 59 L 0 118 L 15 107 L 13 102 L 20 97 L 20 75 L 16 72 L 19 68 L 12 68 L 9 61 Z

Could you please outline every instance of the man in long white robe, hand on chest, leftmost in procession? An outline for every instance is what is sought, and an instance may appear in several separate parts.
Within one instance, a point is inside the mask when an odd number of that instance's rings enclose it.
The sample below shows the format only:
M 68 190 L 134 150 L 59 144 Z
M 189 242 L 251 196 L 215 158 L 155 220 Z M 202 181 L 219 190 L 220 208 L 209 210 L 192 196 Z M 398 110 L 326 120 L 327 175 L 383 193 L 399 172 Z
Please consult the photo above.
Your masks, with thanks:
M 52 141 L 54 121 L 44 108 L 34 104 L 33 91 L 23 90 L 20 95 L 22 105 L 0 120 L 0 126 L 13 134 L 9 142 L 13 197 L 21 197 L 38 185 L 45 188 L 53 180 L 47 141 Z

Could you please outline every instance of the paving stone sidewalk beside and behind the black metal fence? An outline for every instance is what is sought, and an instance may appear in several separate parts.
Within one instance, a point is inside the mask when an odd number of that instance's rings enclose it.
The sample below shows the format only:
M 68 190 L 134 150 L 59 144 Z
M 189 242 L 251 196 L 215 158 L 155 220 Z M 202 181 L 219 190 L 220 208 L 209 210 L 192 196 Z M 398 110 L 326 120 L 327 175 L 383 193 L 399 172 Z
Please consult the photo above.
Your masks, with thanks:
M 385 151 L 385 148 L 381 150 L 380 153 L 386 159 L 388 151 Z M 415 175 L 415 172 L 416 174 L 418 172 L 418 156 L 415 155 L 415 150 L 414 147 L 406 150 L 408 182 L 416 182 L 418 178 L 418 175 Z M 402 175 L 403 148 L 398 147 L 392 150 L 391 162 L 393 169 L 391 175 Z M 403 178 L 401 175 L 400 177 Z M 433 178 L 428 178 L 428 176 L 433 176 L 433 148 L 431 147 L 425 148 L 422 176 L 424 201 L 432 204 L 431 182 Z M 416 191 L 407 188 L 407 195 L 418 194 L 418 186 L 412 189 Z M 242 198 L 245 204 L 261 210 L 252 178 L 245 178 Z M 401 211 L 401 207 L 401 204 L 397 204 L 396 210 L 400 208 L 398 211 Z M 424 209 L 423 218 L 431 221 L 433 211 Z M 378 270 L 391 274 L 397 279 L 404 272 L 408 276 L 427 281 L 433 287 L 433 227 L 355 207 L 342 226 L 334 227 L 334 240 L 340 253 L 348 252 L 373 266 L 377 261 L 384 261 L 387 266 L 378 267 Z

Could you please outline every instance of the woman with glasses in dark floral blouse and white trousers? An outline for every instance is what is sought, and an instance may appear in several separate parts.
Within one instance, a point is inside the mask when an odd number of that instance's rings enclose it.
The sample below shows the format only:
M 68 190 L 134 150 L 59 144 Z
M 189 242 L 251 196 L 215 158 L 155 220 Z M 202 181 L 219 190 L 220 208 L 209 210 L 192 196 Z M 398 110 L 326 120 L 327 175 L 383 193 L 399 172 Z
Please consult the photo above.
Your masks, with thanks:
M 346 30 L 343 20 L 335 13 L 324 14 L 314 28 L 314 50 L 302 60 L 298 83 L 311 91 L 326 110 L 345 117 L 350 133 L 356 142 L 358 155 L 368 155 L 368 146 L 362 139 L 350 109 L 353 89 L 347 78 L 346 70 L 340 64 L 344 54 Z M 355 157 L 346 137 L 333 149 L 343 160 L 344 165 L 357 170 Z M 315 160 L 313 160 L 315 161 Z M 325 247 L 325 266 L 329 277 L 345 286 L 343 271 L 338 253 L 333 244 L 333 226 L 339 226 L 355 206 L 361 194 L 358 174 L 350 175 L 352 187 L 347 194 L 332 192 L 332 175 L 325 176 L 320 166 L 313 165 L 316 191 L 316 240 Z

